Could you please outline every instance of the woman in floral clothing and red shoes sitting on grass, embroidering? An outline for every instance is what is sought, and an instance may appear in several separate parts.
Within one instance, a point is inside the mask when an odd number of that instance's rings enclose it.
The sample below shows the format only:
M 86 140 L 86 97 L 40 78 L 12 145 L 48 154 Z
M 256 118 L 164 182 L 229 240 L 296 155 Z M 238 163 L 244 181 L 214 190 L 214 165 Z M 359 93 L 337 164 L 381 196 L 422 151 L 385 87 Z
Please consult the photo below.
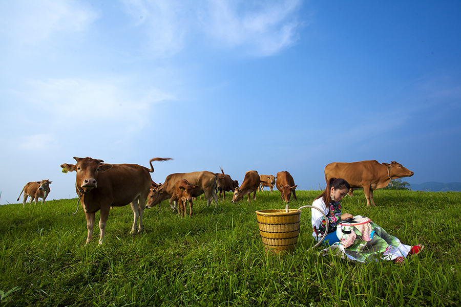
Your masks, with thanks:
M 338 248 L 349 259 L 365 262 L 380 256 L 382 259 L 404 262 L 407 255 L 416 255 L 424 248 L 423 245 L 404 245 L 400 240 L 388 234 L 384 229 L 368 218 L 342 213 L 339 203 L 349 192 L 350 186 L 341 178 L 328 180 L 325 191 L 312 203 L 328 218 L 328 233 L 324 244 L 330 249 Z M 328 206 L 326 205 L 328 204 Z M 325 217 L 319 210 L 312 210 L 312 235 L 320 240 L 325 234 Z M 352 220 L 352 221 L 351 221 Z M 353 221 L 355 220 L 355 221 Z

